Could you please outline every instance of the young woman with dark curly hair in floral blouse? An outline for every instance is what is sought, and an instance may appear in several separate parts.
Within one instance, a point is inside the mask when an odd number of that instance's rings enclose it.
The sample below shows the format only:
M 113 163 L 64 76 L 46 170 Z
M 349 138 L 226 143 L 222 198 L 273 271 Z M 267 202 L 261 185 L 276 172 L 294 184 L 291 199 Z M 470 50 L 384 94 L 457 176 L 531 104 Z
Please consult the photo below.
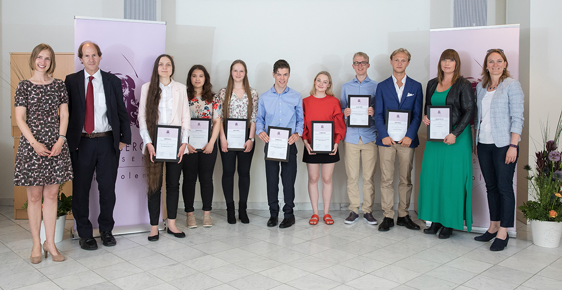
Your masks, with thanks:
M 202 65 L 194 65 L 187 74 L 187 97 L 191 117 L 212 119 L 212 133 L 209 143 L 203 148 L 193 148 L 187 144 L 189 153 L 183 156 L 182 194 L 187 212 L 187 227 L 196 228 L 193 216 L 195 184 L 199 177 L 201 199 L 203 201 L 203 226 L 212 226 L 211 202 L 213 194 L 212 174 L 216 162 L 216 138 L 219 136 L 222 108 L 219 96 L 212 92 L 211 77 Z M 203 149 L 197 152 L 196 149 Z

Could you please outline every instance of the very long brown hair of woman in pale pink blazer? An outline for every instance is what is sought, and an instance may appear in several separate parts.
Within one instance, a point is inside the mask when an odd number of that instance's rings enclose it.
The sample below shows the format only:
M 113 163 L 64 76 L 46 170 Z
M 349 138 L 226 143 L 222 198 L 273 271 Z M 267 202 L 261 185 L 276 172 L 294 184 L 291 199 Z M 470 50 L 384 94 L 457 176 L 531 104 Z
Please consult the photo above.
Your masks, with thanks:
M 156 138 L 156 124 L 158 123 L 158 105 L 162 98 L 162 89 L 160 88 L 160 81 L 158 79 L 158 64 L 162 57 L 167 57 L 172 63 L 172 74 L 175 72 L 174 58 L 169 55 L 160 55 L 156 58 L 154 66 L 152 67 L 152 76 L 150 84 L 148 85 L 148 92 L 146 96 L 145 111 L 146 111 L 146 128 L 152 141 Z M 146 171 L 146 183 L 148 185 L 148 192 L 154 192 L 161 186 L 162 183 L 162 164 L 160 162 L 151 162 L 150 153 L 148 150 L 144 151 L 144 171 Z

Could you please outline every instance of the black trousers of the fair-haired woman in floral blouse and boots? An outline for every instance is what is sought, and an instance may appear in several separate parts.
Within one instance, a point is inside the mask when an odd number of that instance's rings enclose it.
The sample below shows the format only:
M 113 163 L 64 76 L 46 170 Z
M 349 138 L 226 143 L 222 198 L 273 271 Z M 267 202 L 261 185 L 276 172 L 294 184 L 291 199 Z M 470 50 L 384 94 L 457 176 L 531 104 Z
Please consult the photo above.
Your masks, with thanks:
M 220 159 L 223 162 L 223 193 L 226 203 L 234 202 L 234 171 L 236 171 L 236 160 L 238 159 L 238 194 L 239 202 L 248 202 L 250 192 L 250 166 L 252 165 L 253 146 L 250 152 L 244 151 L 220 151 Z

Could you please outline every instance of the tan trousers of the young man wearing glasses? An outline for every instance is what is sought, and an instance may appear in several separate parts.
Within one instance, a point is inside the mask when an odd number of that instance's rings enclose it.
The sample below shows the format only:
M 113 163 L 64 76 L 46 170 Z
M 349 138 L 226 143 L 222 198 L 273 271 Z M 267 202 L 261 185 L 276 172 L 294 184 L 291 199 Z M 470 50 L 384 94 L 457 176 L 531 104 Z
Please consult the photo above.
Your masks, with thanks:
M 359 214 L 359 160 L 363 164 L 363 213 L 373 211 L 375 199 L 374 176 L 377 168 L 378 146 L 375 142 L 363 144 L 359 138 L 359 144 L 345 143 L 346 172 L 347 172 L 347 195 L 350 198 L 350 211 Z

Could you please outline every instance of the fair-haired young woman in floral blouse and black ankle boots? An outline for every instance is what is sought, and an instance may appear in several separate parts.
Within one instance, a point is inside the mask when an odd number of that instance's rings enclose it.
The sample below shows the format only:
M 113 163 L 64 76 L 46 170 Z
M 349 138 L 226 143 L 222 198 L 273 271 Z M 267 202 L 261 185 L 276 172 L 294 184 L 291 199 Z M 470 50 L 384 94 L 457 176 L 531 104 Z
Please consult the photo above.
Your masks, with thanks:
M 228 151 L 228 141 L 224 134 L 224 126 L 220 126 L 220 158 L 223 161 L 223 192 L 226 200 L 226 215 L 229 224 L 236 223 L 234 216 L 234 171 L 238 158 L 238 218 L 243 224 L 250 223 L 246 213 L 248 192 L 250 191 L 250 166 L 253 156 L 253 142 L 256 135 L 257 91 L 250 88 L 246 75 L 246 63 L 235 60 L 230 65 L 230 77 L 226 88 L 219 91 L 220 102 L 223 104 L 224 118 L 247 119 L 248 140 L 244 143 L 244 151 Z M 248 97 L 248 92 L 250 96 Z M 223 124 L 224 125 L 224 124 Z

